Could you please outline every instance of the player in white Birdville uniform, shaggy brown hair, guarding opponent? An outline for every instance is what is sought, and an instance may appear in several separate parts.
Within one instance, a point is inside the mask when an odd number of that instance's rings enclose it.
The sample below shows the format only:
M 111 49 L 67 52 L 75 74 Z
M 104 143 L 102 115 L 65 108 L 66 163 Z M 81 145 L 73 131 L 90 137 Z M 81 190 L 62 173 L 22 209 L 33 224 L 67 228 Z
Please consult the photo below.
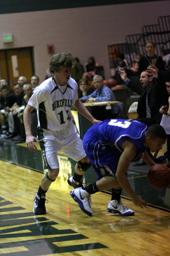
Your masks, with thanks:
M 79 101 L 77 83 L 71 78 L 72 58 L 70 55 L 60 53 L 53 55 L 49 65 L 49 71 L 53 77 L 45 80 L 32 94 L 24 110 L 24 125 L 26 131 L 27 148 L 34 152 L 37 147 L 35 141 L 40 144 L 42 150 L 44 168 L 48 169 L 43 177 L 36 197 L 34 198 L 34 214 L 45 214 L 45 193 L 59 174 L 59 161 L 57 151 L 62 151 L 75 160 L 74 180 L 82 183 L 82 173 L 90 166 L 83 149 L 77 129 L 73 124 L 71 106 L 73 105 L 83 116 L 92 122 L 100 121 L 93 118 L 87 108 Z M 31 112 L 38 110 L 37 138 L 31 132 Z

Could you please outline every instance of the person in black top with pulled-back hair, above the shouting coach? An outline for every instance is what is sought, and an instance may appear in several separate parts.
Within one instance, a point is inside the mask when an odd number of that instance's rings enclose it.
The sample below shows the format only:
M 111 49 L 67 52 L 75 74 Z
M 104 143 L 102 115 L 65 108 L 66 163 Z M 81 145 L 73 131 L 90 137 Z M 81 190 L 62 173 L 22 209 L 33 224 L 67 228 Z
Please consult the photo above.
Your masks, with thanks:
M 164 61 L 162 57 L 155 54 L 155 44 L 152 41 L 146 43 L 146 52 L 142 58 L 139 60 L 139 71 L 138 75 L 141 75 L 141 72 L 146 70 L 149 65 L 151 65 L 152 60 L 156 59 L 156 68 L 165 70 Z

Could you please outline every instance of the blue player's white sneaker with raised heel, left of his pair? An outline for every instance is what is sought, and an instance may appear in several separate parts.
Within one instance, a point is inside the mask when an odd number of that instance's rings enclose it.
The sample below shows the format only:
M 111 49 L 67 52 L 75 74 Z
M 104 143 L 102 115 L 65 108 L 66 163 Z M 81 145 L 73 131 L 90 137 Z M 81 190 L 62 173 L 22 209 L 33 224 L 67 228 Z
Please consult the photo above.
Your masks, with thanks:
M 79 204 L 80 209 L 87 214 L 88 216 L 92 216 L 93 212 L 91 210 L 91 198 L 90 194 L 83 190 L 82 188 L 75 188 L 70 192 L 70 195 Z

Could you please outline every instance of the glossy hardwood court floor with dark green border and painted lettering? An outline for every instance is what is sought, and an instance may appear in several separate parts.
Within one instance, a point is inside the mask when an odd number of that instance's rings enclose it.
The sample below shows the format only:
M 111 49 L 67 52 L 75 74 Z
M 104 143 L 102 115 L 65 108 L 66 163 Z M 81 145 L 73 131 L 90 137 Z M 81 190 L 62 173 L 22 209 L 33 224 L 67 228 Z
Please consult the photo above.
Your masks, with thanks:
M 0 149 L 0 255 L 169 255 L 170 186 L 155 190 L 147 184 L 147 174 L 128 171 L 131 186 L 150 206 L 134 206 L 123 193 L 135 215 L 109 214 L 110 192 L 99 192 L 91 197 L 94 215 L 89 217 L 70 196 L 67 178 L 75 162 L 60 154 L 59 177 L 46 193 L 47 213 L 34 216 L 33 200 L 44 175 L 40 151 L 1 141 Z M 95 180 L 90 168 L 84 182 Z

